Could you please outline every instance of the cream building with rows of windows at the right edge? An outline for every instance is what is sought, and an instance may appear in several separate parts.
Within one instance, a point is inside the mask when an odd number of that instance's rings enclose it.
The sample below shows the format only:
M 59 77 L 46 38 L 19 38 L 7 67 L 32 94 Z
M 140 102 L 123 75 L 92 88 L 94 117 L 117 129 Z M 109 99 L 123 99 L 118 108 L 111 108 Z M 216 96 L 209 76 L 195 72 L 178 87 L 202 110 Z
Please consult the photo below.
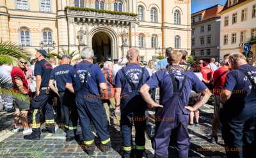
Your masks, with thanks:
M 223 55 L 243 52 L 244 43 L 256 38 L 256 0 L 228 0 L 221 15 L 220 59 Z M 256 54 L 256 44 L 251 45 Z

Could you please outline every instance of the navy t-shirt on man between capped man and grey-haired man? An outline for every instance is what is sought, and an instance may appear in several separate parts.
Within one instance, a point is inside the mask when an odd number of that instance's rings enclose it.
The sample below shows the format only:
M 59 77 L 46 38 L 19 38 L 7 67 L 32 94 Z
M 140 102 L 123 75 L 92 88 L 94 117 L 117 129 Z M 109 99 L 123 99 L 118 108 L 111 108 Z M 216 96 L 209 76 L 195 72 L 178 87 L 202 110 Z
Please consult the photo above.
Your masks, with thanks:
M 65 91 L 68 73 L 72 67 L 70 64 L 63 64 L 52 69 L 51 80 L 56 81 L 59 92 Z

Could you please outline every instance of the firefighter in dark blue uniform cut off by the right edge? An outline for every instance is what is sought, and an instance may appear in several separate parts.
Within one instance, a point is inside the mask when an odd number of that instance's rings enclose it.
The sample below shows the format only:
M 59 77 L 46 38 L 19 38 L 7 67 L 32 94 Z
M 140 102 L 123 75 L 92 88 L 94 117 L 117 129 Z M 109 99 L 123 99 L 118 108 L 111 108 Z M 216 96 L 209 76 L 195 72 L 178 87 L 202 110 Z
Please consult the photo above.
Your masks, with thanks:
M 227 74 L 220 98 L 222 136 L 227 157 L 255 157 L 253 140 L 256 119 L 256 68 L 241 53 L 230 54 L 232 71 Z

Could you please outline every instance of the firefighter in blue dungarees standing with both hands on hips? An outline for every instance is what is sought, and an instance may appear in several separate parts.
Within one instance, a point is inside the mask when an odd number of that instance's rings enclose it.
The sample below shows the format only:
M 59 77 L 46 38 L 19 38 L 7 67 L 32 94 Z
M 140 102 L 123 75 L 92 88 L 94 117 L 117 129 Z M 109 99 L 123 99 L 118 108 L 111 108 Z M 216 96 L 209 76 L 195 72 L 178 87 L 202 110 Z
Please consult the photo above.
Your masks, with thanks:
M 188 119 L 189 110 L 195 111 L 207 102 L 211 91 L 191 71 L 183 71 L 179 64 L 182 53 L 173 51 L 168 57 L 172 69 L 157 71 L 148 82 L 141 87 L 141 95 L 145 101 L 156 108 L 156 134 L 152 146 L 155 149 L 155 157 L 168 157 L 170 135 L 173 130 L 177 133 L 175 138 L 179 157 L 188 157 L 189 134 Z M 155 103 L 148 90 L 160 87 L 160 104 Z M 202 92 L 195 106 L 188 105 L 191 90 Z

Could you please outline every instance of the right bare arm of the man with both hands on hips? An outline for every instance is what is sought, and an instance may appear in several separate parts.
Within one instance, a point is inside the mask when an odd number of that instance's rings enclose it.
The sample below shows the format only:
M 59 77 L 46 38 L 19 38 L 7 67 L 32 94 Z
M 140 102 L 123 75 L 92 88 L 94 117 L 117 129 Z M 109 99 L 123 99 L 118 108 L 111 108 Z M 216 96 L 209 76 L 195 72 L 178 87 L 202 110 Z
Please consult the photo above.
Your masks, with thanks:
M 198 101 L 195 103 L 194 106 L 185 106 L 185 108 L 188 109 L 189 111 L 196 111 L 196 110 L 198 110 L 198 108 L 200 108 L 205 103 L 207 103 L 207 101 L 209 100 L 211 95 L 212 95 L 211 90 L 205 89 L 201 93 L 201 96 L 199 97 Z

